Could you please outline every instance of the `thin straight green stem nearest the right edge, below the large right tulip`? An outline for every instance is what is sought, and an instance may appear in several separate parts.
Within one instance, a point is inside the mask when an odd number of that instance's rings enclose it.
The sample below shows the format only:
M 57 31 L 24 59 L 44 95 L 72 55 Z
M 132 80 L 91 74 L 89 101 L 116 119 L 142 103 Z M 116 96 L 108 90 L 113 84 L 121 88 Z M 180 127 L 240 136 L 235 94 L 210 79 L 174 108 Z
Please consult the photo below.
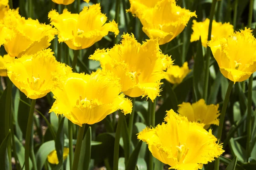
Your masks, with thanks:
M 250 140 L 251 140 L 251 130 L 252 130 L 252 93 L 253 93 L 253 74 L 249 78 L 248 83 L 248 97 L 247 97 L 247 121 L 246 121 L 246 128 L 247 128 L 247 142 L 246 142 L 246 150 L 247 150 L 247 157 L 246 160 L 248 161 L 250 158 Z

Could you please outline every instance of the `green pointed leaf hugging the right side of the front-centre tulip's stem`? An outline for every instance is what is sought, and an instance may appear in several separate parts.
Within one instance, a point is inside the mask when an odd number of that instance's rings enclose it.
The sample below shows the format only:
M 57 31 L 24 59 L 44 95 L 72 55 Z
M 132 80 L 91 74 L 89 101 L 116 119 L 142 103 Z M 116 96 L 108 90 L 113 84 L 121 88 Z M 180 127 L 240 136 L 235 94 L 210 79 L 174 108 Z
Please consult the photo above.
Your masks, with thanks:
M 91 156 L 91 136 L 92 130 L 91 127 L 87 129 L 87 132 L 85 133 L 82 147 L 81 147 L 81 153 L 79 157 L 79 170 L 88 170 L 89 164 L 90 164 L 90 156 Z

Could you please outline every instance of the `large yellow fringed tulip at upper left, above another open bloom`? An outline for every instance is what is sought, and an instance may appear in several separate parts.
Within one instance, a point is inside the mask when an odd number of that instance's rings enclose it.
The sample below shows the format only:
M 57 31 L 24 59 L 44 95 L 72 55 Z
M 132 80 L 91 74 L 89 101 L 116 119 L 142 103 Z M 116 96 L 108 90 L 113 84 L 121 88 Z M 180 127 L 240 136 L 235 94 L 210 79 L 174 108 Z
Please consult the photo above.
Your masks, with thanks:
M 55 28 L 41 24 L 38 20 L 30 18 L 26 20 L 18 14 L 18 11 L 11 9 L 7 12 L 0 31 L 0 35 L 5 34 L 6 31 L 10 34 L 0 38 L 0 45 L 4 44 L 4 48 L 11 57 L 18 58 L 23 54 L 35 54 L 48 48 L 57 34 Z

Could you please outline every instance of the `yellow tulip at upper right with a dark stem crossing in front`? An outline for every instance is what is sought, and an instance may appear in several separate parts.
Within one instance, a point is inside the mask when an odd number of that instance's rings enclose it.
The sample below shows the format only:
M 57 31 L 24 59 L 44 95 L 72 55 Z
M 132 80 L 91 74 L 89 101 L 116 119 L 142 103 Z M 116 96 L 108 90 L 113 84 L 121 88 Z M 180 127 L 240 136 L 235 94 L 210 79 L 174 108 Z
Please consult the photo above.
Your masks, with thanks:
M 190 38 L 190 42 L 198 41 L 201 37 L 202 45 L 207 47 L 208 39 L 208 28 L 209 28 L 209 19 L 207 18 L 204 22 L 196 22 L 193 20 L 192 30 L 193 33 Z M 225 37 L 233 34 L 234 28 L 230 23 L 217 23 L 215 20 L 212 21 L 212 35 L 211 39 L 215 40 L 218 38 Z

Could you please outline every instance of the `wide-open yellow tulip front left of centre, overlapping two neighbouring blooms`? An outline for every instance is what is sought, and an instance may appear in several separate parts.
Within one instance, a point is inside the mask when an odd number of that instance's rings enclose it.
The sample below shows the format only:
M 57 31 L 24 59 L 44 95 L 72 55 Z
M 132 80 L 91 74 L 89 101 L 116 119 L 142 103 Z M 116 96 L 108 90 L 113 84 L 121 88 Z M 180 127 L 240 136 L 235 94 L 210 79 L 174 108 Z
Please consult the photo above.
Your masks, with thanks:
M 113 74 L 98 70 L 92 74 L 68 74 L 52 90 L 56 99 L 49 112 L 63 114 L 76 125 L 94 124 L 116 110 L 131 113 L 132 103 L 121 93 Z

